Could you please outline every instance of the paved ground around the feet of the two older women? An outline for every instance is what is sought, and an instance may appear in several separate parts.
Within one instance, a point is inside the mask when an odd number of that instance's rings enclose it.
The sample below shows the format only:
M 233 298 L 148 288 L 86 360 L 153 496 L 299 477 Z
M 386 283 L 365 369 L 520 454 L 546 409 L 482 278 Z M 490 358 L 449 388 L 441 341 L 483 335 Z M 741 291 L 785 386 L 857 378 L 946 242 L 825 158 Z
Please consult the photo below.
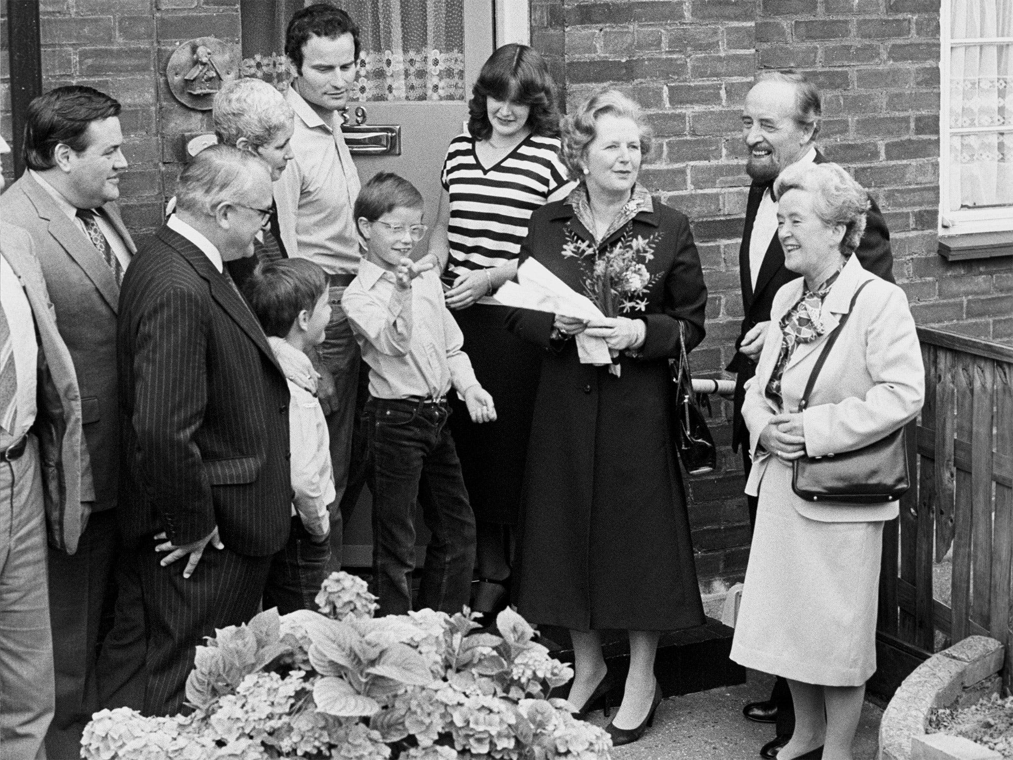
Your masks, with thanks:
M 748 671 L 747 682 L 666 699 L 654 726 L 639 742 L 612 751 L 614 760 L 758 760 L 760 748 L 774 738 L 773 724 L 743 717 L 743 705 L 766 699 L 773 676 Z M 613 708 L 615 715 L 615 708 Z M 855 736 L 855 760 L 874 760 L 882 710 L 866 702 Z M 589 718 L 606 726 L 601 710 Z

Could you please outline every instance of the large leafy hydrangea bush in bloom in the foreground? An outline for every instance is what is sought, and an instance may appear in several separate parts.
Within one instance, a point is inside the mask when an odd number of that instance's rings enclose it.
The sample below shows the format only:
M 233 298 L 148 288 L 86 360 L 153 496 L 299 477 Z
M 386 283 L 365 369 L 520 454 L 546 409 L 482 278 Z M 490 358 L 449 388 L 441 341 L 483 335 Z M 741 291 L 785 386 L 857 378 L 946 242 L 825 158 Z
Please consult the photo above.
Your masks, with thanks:
M 333 573 L 320 612 L 217 630 L 198 647 L 186 715 L 92 716 L 86 760 L 600 760 L 612 741 L 551 688 L 573 676 L 513 610 L 499 635 L 467 614 L 374 618 L 366 583 Z M 465 611 L 466 612 L 466 611 Z

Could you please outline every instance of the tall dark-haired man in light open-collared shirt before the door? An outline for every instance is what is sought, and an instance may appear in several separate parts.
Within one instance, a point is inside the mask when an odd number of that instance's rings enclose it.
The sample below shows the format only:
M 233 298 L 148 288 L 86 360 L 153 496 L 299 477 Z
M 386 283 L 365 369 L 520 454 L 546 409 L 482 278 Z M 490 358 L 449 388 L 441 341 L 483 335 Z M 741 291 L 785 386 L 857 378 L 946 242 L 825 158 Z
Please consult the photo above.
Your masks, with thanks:
M 336 569 L 342 542 L 338 505 L 350 514 L 364 482 L 363 452 L 353 447 L 361 352 L 341 309 L 344 289 L 361 258 L 352 214 L 359 172 L 341 136 L 339 112 L 347 106 L 356 76 L 359 27 L 332 5 L 310 5 L 292 16 L 285 52 L 294 72 L 286 99 L 296 112 L 291 142 L 295 158 L 278 180 L 275 199 L 289 255 L 320 264 L 330 289 L 330 323 L 311 358 L 322 375 L 320 401 L 330 435 L 336 495 L 330 509 L 330 566 Z

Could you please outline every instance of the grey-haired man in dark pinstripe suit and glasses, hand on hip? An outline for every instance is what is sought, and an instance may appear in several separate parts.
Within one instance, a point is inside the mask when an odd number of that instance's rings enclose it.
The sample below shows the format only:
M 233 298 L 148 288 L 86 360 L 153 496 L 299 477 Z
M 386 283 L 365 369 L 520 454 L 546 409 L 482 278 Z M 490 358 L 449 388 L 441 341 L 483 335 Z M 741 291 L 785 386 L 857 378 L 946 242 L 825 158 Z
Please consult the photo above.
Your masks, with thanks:
M 120 299 L 120 517 L 148 622 L 148 715 L 179 711 L 204 636 L 256 613 L 292 503 L 285 375 L 223 267 L 253 253 L 267 166 L 213 146 L 176 200 Z

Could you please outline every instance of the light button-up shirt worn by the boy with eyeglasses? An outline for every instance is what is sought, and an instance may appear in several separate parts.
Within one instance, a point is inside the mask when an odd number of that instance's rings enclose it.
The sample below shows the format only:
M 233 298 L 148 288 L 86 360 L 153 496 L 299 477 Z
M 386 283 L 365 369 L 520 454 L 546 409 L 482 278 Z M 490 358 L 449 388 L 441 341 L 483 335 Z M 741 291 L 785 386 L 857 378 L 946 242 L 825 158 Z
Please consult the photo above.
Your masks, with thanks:
M 463 397 L 478 383 L 436 271 L 423 272 L 410 289 L 400 290 L 392 273 L 364 258 L 341 308 L 370 366 L 373 396 L 439 398 L 453 385 Z

